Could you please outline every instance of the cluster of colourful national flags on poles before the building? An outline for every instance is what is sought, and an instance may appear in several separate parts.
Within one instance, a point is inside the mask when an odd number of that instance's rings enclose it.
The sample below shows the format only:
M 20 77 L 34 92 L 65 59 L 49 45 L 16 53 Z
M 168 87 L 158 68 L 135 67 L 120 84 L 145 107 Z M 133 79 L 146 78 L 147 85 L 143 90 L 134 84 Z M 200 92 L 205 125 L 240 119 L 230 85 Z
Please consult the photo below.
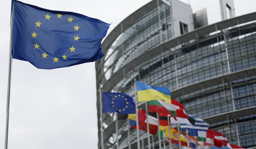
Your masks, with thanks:
M 222 133 L 210 130 L 208 128 L 209 124 L 204 120 L 186 114 L 185 107 L 178 101 L 171 99 L 171 93 L 167 87 L 151 87 L 134 79 L 135 103 L 133 97 L 125 93 L 102 92 L 101 88 L 99 91 L 101 149 L 104 149 L 103 113 L 109 112 L 117 112 L 118 115 L 123 114 L 122 119 L 128 118 L 130 128 L 136 129 L 138 149 L 141 148 L 139 130 L 147 132 L 147 147 L 149 149 L 151 149 L 151 135 L 158 135 L 159 149 L 162 149 L 161 131 L 164 138 L 164 149 L 165 141 L 170 144 L 170 149 L 173 144 L 178 146 L 179 149 L 181 149 L 181 146 L 188 149 L 243 149 L 243 147 L 229 144 L 227 137 Z M 146 101 L 146 111 L 138 109 L 138 102 L 143 101 Z M 118 149 L 117 119 L 115 122 Z M 175 125 L 177 129 L 172 128 L 171 124 L 172 126 Z M 186 134 L 181 133 L 180 130 L 186 130 Z M 190 135 L 188 135 L 188 131 Z M 130 149 L 130 130 L 128 132 L 128 145 Z M 142 147 L 144 149 L 143 141 Z M 154 141 L 152 147 L 154 149 Z

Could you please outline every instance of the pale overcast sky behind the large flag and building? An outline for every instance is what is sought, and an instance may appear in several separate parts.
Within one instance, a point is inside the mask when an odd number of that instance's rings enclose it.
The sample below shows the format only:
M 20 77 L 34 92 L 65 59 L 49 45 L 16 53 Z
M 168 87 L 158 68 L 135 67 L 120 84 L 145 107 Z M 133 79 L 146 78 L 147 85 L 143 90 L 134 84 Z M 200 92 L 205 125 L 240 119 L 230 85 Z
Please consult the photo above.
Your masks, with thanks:
M 112 23 L 109 32 L 150 0 L 22 0 L 42 8 L 73 11 Z M 188 3 L 188 0 L 183 0 Z M 236 16 L 254 12 L 255 0 L 234 0 Z M 190 0 L 220 21 L 218 0 Z M 11 1 L 0 5 L 0 148 L 5 144 Z M 211 19 L 214 18 L 214 19 Z M 109 33 L 108 32 L 108 33 Z M 53 70 L 13 59 L 8 149 L 96 149 L 98 142 L 94 62 Z

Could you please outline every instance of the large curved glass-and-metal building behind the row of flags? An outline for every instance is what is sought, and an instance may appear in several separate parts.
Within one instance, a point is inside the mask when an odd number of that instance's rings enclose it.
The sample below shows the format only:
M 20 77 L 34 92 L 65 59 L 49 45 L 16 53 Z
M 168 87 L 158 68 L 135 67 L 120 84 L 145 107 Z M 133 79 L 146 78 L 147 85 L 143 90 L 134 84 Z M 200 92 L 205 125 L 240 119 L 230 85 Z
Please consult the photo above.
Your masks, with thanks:
M 222 21 L 210 25 L 206 9 L 193 14 L 179 0 L 152 0 L 130 14 L 102 43 L 97 88 L 134 97 L 134 79 L 168 87 L 186 113 L 230 144 L 256 148 L 256 12 L 235 16 L 233 0 L 219 4 Z M 115 113 L 102 115 L 101 133 L 100 99 L 97 90 L 98 148 L 137 148 L 136 130 Z M 147 149 L 147 133 L 139 132 Z M 150 139 L 154 149 L 164 143 Z

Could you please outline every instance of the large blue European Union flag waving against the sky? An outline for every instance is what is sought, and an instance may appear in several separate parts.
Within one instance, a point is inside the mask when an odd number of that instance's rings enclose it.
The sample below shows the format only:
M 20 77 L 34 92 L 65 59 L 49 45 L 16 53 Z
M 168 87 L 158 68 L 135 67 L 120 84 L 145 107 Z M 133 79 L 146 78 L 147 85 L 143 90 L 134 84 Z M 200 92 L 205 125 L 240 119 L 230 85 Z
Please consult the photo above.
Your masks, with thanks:
M 102 58 L 110 24 L 82 14 L 15 1 L 12 56 L 40 69 L 68 67 Z

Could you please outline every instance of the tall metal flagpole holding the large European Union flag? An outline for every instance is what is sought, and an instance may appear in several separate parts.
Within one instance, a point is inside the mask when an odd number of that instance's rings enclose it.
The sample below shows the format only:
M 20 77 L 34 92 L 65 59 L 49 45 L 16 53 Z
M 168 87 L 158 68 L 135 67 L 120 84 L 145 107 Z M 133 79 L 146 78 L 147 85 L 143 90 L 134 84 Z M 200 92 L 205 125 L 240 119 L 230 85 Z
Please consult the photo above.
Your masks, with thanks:
M 8 130 L 9 130 L 9 111 L 10 111 L 10 93 L 11 93 L 11 65 L 12 65 L 12 42 L 13 42 L 13 15 L 14 4 L 11 12 L 11 26 L 10 26 L 10 51 L 9 51 L 9 73 L 8 73 L 8 87 L 7 87 L 7 101 L 6 101 L 6 125 L 5 125 L 5 149 L 8 147 Z

